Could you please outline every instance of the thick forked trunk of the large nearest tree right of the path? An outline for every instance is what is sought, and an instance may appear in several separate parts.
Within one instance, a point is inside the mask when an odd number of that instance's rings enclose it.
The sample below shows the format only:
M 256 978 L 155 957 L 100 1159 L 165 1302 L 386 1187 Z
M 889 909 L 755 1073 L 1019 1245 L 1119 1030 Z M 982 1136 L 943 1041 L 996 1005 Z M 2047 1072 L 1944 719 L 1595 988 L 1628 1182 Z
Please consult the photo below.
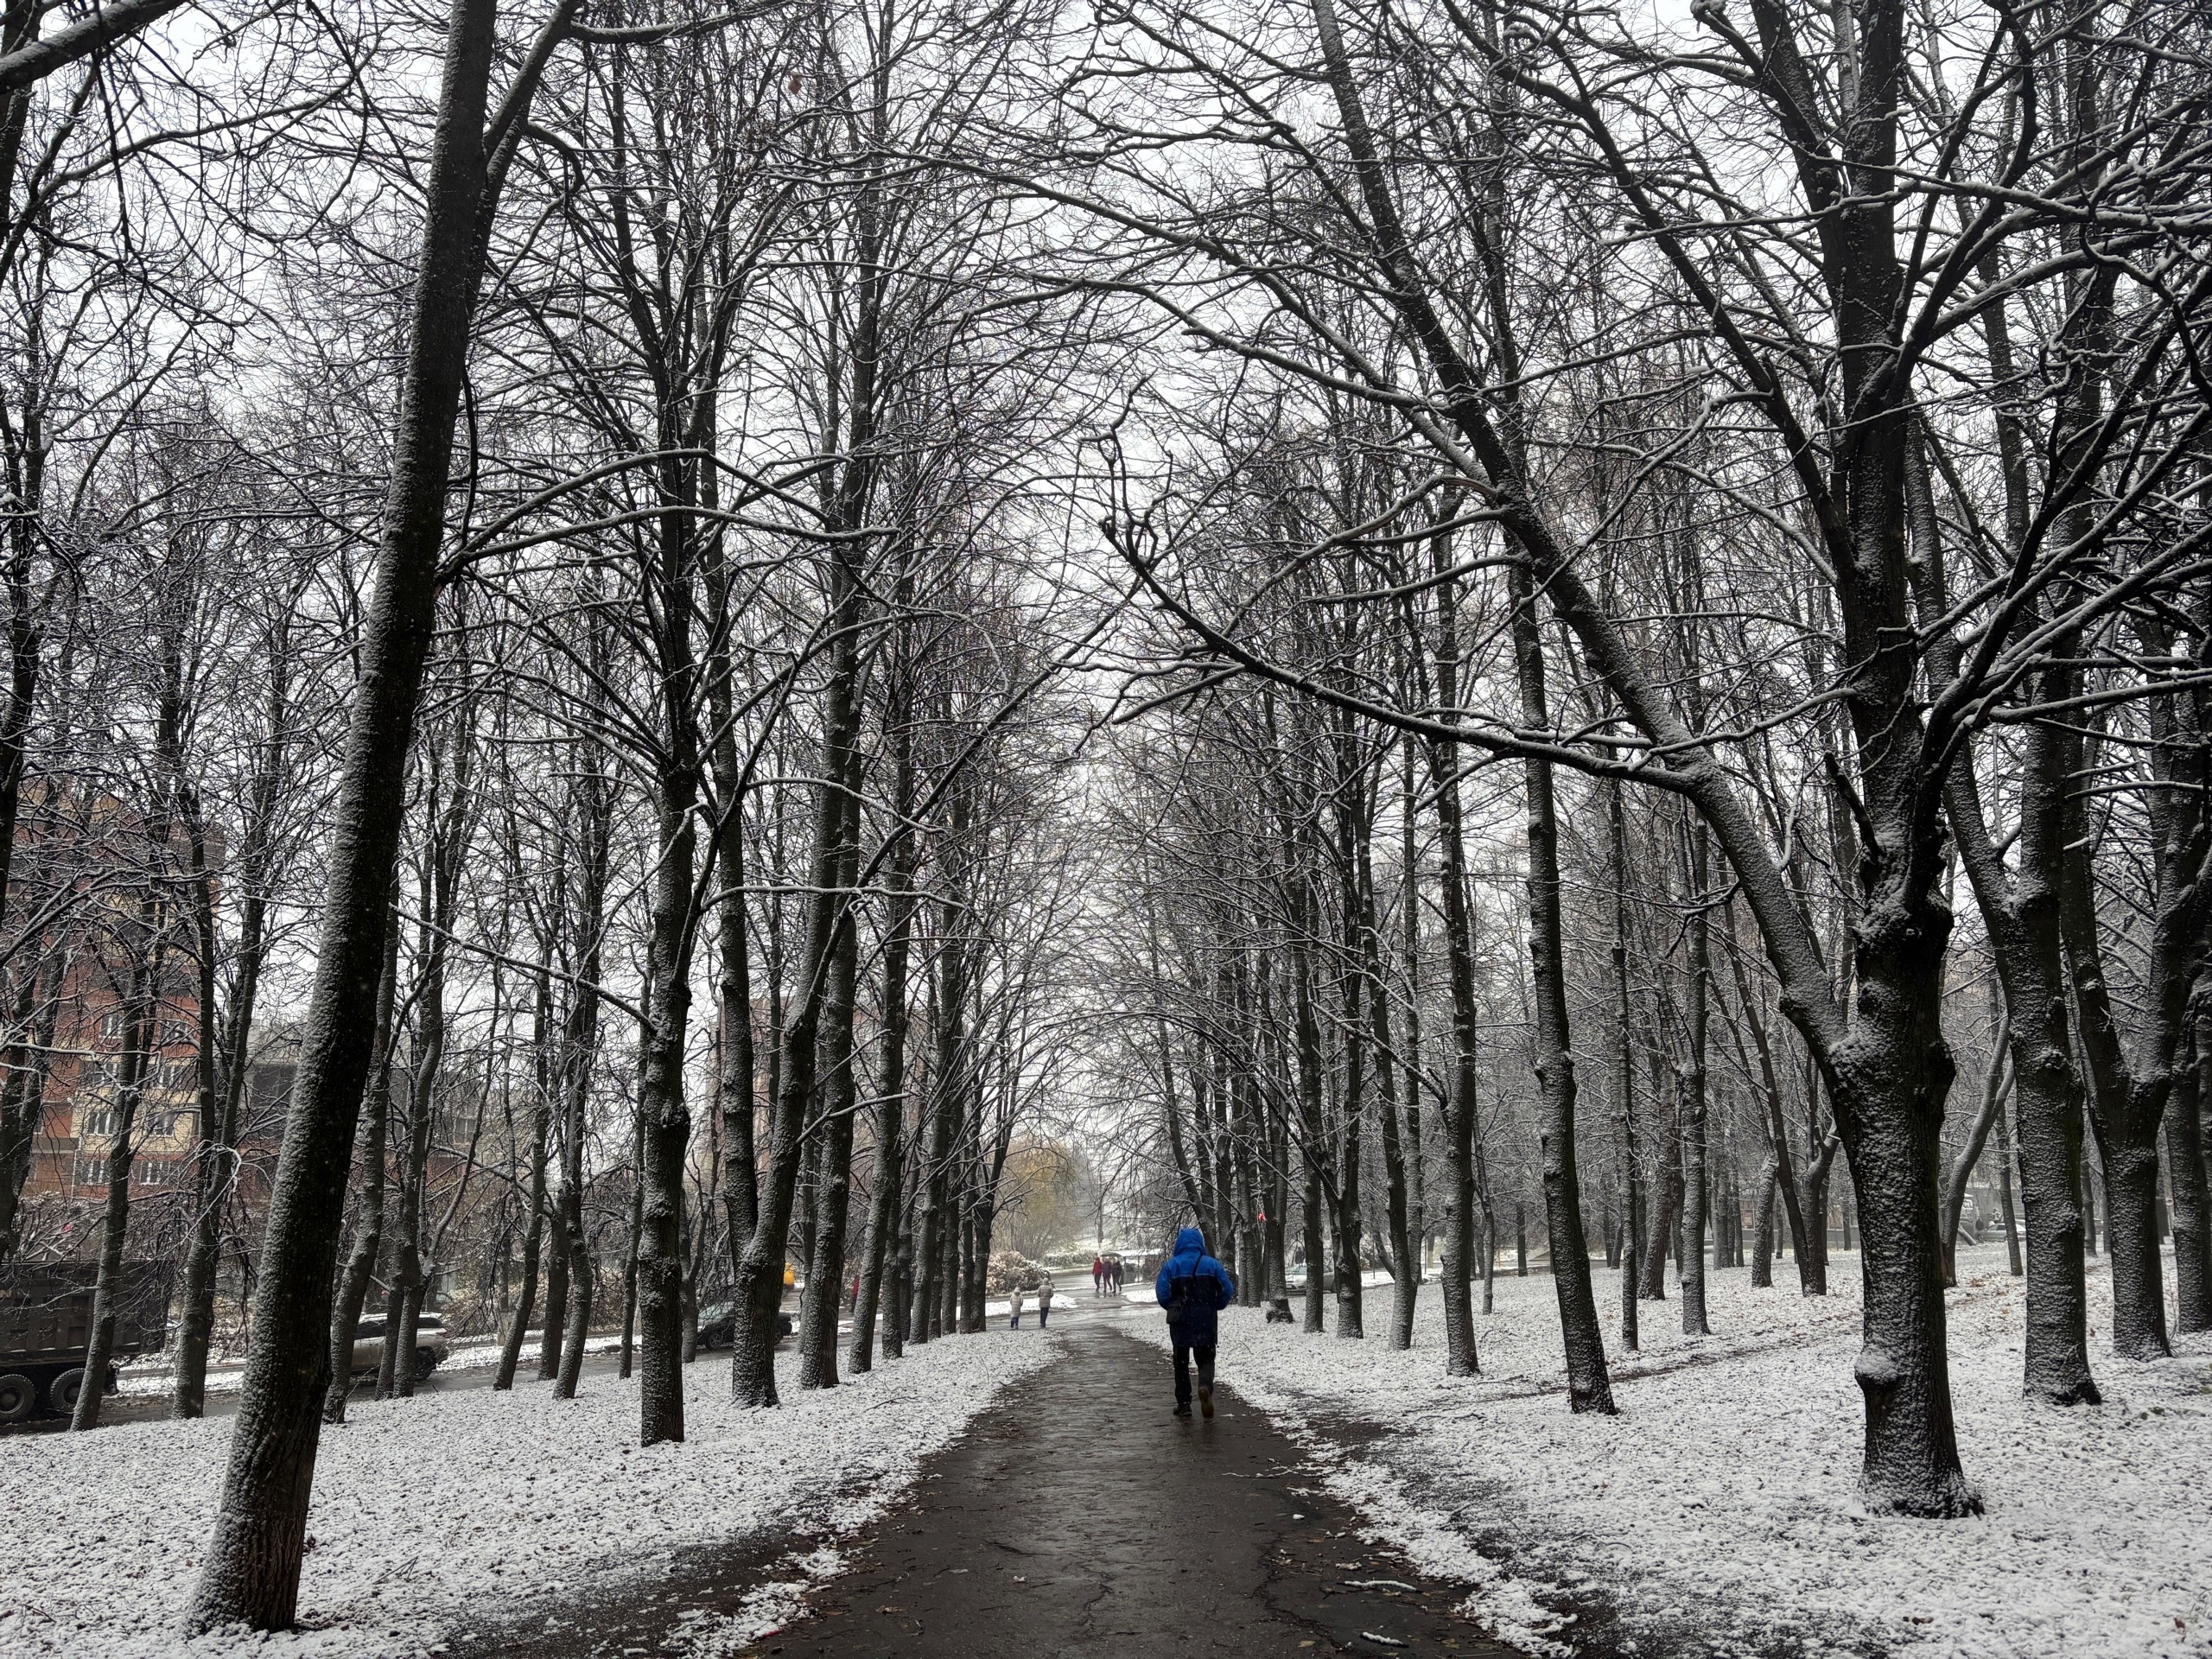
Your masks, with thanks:
M 1896 124 L 1902 86 L 1902 7 L 1874 4 L 1863 20 L 1858 100 L 1838 166 L 1798 150 L 1798 170 L 1820 212 L 1823 276 L 1838 319 L 1840 431 L 1834 478 L 1820 480 L 1820 535 L 1843 611 L 1845 706 L 1856 741 L 1860 805 L 1869 818 L 1856 867 L 1858 975 L 1849 1011 L 1840 1004 L 1803 911 L 1743 810 L 1728 770 L 1690 732 L 1577 571 L 1575 555 L 1535 509 L 1526 469 L 1489 414 L 1489 400 L 1442 314 L 1429 299 L 1398 217 L 1389 166 L 1367 122 L 1352 58 L 1332 0 L 1312 4 L 1327 86 L 1343 124 L 1374 263 L 1389 303 L 1413 336 L 1467 471 L 1482 484 L 1504 531 L 1528 555 L 1537 584 L 1579 637 L 1588 670 L 1601 677 L 1626 714 L 1661 754 L 1670 781 L 1705 816 L 1759 918 L 1783 978 L 1783 1006 L 1814 1048 L 1834 1102 L 1836 1126 L 1860 1192 L 1860 1219 L 1876 1248 L 1863 1256 L 1867 1400 L 1863 1486 L 1878 1509 L 1962 1515 L 1978 1506 L 1958 1460 L 1944 1352 L 1942 1274 L 1936 1252 L 1936 1133 L 1951 1082 L 1942 1040 L 1942 953 L 1949 909 L 1936 894 L 1942 841 L 1924 772 L 1944 732 L 1929 728 L 1918 701 L 1916 630 L 1900 566 L 1898 440 L 1900 372 L 1896 319 L 1900 272 L 1896 201 Z M 1528 86 L 1511 60 L 1500 73 Z M 1792 73 L 1792 51 L 1778 64 Z M 1542 88 L 1546 95 L 1557 88 Z M 1608 159 L 1610 166 L 1610 159 Z M 1615 166 L 1624 173 L 1626 164 Z M 1646 219 L 1652 219 L 1646 212 Z M 1655 226 L 1666 232 L 1666 226 Z M 1688 272 L 1701 288 L 1703 276 Z M 1809 471 L 1801 478 L 1812 487 Z M 1942 719 L 1953 710 L 1944 708 Z

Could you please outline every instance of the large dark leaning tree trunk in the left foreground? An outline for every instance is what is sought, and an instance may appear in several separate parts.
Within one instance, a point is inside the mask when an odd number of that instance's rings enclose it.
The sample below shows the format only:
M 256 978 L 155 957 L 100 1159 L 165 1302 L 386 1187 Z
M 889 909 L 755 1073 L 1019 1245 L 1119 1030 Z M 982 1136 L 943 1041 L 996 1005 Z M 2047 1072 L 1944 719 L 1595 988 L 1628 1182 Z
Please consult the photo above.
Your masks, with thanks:
M 557 29 L 566 29 L 568 7 L 573 0 L 555 11 Z M 374 1044 L 407 748 L 436 624 L 453 420 L 498 199 L 484 135 L 495 15 L 493 0 L 453 0 L 447 31 L 383 549 L 332 810 L 323 938 L 270 1192 L 254 1340 L 223 1495 L 186 1619 L 192 1632 L 226 1624 L 283 1630 L 299 1608 L 345 1172 Z M 544 38 L 546 51 L 553 38 Z M 500 164 L 502 146 L 520 139 L 542 62 L 544 53 L 509 91 L 491 135 Z

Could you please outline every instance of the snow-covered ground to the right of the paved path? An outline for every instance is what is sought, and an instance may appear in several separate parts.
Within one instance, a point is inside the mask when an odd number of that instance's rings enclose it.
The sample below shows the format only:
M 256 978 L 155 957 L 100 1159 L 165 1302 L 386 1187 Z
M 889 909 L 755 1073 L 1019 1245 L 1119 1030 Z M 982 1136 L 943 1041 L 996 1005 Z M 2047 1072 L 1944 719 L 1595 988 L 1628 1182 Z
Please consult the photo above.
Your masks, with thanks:
M 1708 1274 L 1717 1336 L 1644 1303 L 1644 1352 L 1617 1352 L 1619 1276 L 1597 1272 L 1617 1418 L 1566 1411 L 1548 1276 L 1500 1279 L 1478 1314 L 1482 1376 L 1442 1376 L 1425 1290 L 1413 1349 L 1228 1312 L 1221 1378 L 1307 1444 L 1380 1535 L 1473 1590 L 1500 1635 L 1559 1650 L 1573 1624 L 1537 1597 L 1595 1595 L 1644 1655 L 2166 1659 L 2212 1655 L 2212 1343 L 2174 1360 L 2110 1358 L 2110 1281 L 2090 1267 L 2101 1407 L 2020 1398 L 2022 1287 L 2002 1245 L 1964 1250 L 1951 1294 L 1951 1387 L 1984 1515 L 1869 1515 L 1856 1498 L 1863 1411 L 1858 1259 L 1832 1294 Z M 1332 1310 L 1334 1323 L 1334 1310 Z M 1155 1340 L 1152 1321 L 1130 1321 Z M 1378 1425 L 1385 1433 L 1345 1433 Z M 1356 1442 L 1356 1444 L 1352 1444 Z M 1482 1546 L 1478 1551 L 1478 1544 Z M 1484 1553 L 1486 1551 L 1486 1553 Z

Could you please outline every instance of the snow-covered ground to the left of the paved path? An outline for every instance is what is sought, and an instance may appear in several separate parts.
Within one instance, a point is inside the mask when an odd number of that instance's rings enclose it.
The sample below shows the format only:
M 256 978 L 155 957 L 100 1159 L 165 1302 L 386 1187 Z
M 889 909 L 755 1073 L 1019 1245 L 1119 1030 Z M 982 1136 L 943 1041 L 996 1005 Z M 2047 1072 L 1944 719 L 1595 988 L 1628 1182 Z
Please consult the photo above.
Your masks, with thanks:
M 653 1577 L 684 1546 L 745 1533 L 863 1526 L 914 1482 L 1055 1338 L 958 1336 L 783 1409 L 728 1402 L 728 1360 L 686 1371 L 684 1444 L 637 1449 L 637 1383 L 588 1374 L 575 1400 L 546 1383 L 363 1400 L 323 1431 L 301 1579 L 307 1630 L 186 1644 L 179 1619 L 221 1489 L 232 1418 L 131 1422 L 0 1442 L 0 1655 L 416 1655 L 484 1630 L 522 1601 Z M 812 1566 L 805 1575 L 814 1575 Z

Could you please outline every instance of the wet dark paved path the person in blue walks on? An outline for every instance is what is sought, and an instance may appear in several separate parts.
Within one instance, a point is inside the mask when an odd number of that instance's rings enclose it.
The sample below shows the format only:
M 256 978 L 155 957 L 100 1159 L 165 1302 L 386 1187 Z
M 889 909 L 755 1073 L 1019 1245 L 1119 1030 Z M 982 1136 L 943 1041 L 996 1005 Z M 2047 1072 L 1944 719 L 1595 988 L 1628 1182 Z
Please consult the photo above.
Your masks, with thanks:
M 1312 1475 L 1301 1475 L 1298 1449 L 1237 1398 L 1234 1356 L 1219 1416 L 1181 1422 L 1170 1416 L 1168 1358 L 1115 1323 L 1066 1321 L 1068 1352 L 931 1462 L 914 1504 L 885 1517 L 856 1546 L 858 1566 L 814 1595 L 814 1617 L 763 1637 L 754 1652 L 1513 1652 L 1451 1617 L 1449 1588 L 1360 1544 L 1343 1506 L 1296 1491 Z

